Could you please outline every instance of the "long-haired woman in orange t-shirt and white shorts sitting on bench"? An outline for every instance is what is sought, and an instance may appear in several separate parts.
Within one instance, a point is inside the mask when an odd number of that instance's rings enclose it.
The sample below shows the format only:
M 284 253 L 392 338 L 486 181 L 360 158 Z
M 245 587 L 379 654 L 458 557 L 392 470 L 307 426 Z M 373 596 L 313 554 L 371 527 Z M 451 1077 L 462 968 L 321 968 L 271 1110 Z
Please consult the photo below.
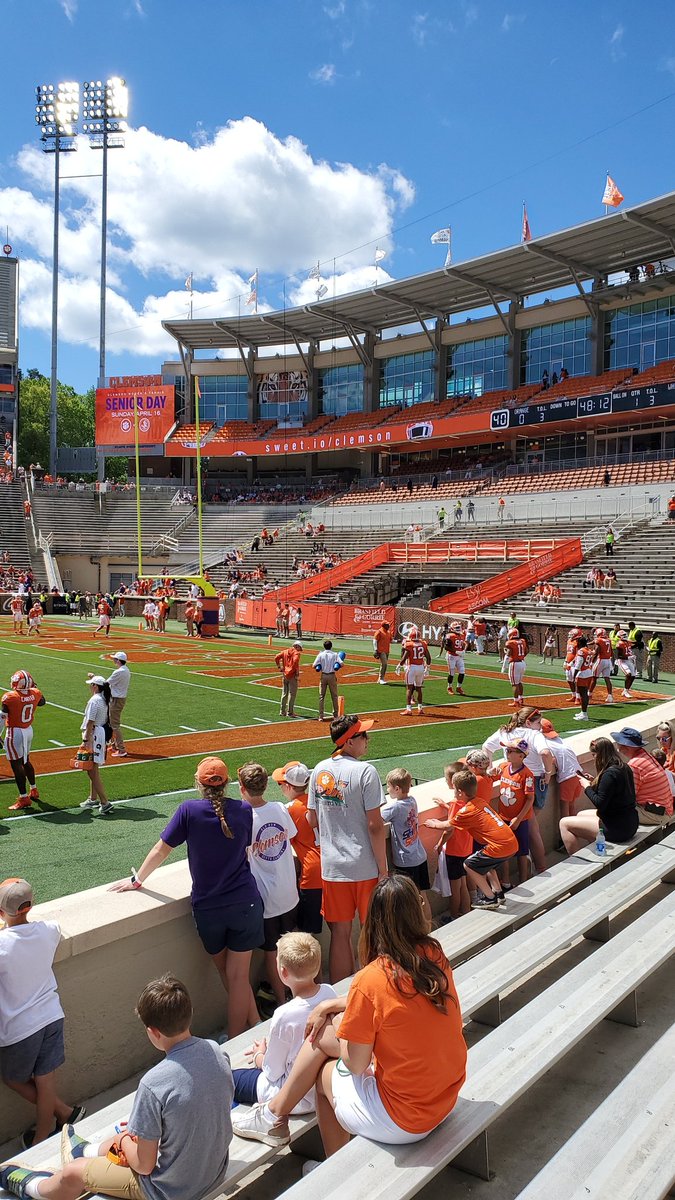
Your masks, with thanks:
M 380 881 L 348 995 L 316 1006 L 279 1094 L 232 1114 L 238 1136 L 285 1145 L 295 1097 L 315 1081 L 328 1156 L 353 1134 L 406 1145 L 444 1121 L 465 1080 L 466 1044 L 450 966 L 429 928 L 411 880 Z

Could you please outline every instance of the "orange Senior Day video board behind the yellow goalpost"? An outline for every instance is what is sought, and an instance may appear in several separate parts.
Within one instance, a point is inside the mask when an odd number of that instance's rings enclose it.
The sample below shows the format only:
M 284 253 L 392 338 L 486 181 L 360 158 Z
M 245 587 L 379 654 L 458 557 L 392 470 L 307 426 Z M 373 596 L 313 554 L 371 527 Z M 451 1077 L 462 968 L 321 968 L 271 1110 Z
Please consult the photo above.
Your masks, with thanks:
M 135 413 L 138 413 L 138 443 L 157 445 L 175 421 L 173 384 L 131 385 L 96 389 L 96 445 L 135 445 Z

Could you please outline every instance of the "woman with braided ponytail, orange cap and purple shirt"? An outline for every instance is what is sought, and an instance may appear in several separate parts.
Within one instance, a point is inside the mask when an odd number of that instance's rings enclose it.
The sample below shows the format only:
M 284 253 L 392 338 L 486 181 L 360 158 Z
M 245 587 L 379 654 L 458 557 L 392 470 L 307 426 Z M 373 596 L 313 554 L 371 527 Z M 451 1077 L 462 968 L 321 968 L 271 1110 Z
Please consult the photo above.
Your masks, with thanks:
M 228 778 L 220 758 L 204 758 L 195 775 L 198 799 L 179 804 L 131 880 L 113 883 L 110 892 L 142 888 L 172 850 L 187 845 L 192 916 L 228 994 L 227 1033 L 232 1038 L 259 1020 L 249 970 L 264 936 L 263 902 L 247 856 L 253 812 L 249 804 L 227 796 Z

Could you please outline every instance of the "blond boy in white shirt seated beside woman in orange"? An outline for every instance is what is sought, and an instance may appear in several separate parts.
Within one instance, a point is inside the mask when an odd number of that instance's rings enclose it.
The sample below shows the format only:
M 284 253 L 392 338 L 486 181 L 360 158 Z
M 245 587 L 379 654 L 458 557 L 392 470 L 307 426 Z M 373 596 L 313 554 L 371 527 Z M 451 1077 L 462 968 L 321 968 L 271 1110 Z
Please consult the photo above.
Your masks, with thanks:
M 276 1009 L 269 1038 L 253 1042 L 246 1050 L 251 1067 L 233 1072 L 235 1104 L 264 1104 L 276 1096 L 305 1040 L 310 1013 L 323 1000 L 334 1000 L 336 995 L 330 984 L 315 982 L 321 972 L 321 946 L 310 934 L 283 934 L 279 938 L 276 968 L 293 998 Z M 312 1087 L 293 1112 L 313 1112 L 315 1106 Z

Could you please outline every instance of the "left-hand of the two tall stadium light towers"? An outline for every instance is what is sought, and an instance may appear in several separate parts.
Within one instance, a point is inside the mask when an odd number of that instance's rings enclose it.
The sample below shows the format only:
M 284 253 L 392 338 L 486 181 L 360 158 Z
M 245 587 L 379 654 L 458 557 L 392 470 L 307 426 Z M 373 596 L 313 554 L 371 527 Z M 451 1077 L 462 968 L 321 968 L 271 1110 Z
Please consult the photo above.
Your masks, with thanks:
M 77 150 L 74 134 L 79 116 L 78 83 L 42 83 L 35 89 L 35 121 L 46 154 L 54 155 L 54 251 L 52 258 L 52 370 L 49 379 L 49 474 L 56 474 L 56 400 L 59 335 L 59 158 L 64 150 Z

